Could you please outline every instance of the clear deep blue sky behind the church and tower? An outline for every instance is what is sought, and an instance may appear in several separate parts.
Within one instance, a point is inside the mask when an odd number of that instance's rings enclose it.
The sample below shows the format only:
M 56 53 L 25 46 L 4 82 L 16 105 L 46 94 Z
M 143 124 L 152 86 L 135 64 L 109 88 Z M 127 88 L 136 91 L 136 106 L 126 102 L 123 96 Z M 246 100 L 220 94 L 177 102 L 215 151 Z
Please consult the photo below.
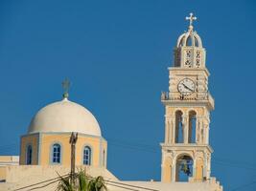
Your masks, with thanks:
M 0 154 L 18 155 L 31 118 L 61 98 L 68 76 L 70 99 L 97 117 L 108 140 L 108 169 L 123 180 L 159 180 L 160 92 L 168 90 L 167 68 L 191 11 L 216 101 L 212 175 L 225 190 L 256 180 L 253 0 L 2 0 Z

